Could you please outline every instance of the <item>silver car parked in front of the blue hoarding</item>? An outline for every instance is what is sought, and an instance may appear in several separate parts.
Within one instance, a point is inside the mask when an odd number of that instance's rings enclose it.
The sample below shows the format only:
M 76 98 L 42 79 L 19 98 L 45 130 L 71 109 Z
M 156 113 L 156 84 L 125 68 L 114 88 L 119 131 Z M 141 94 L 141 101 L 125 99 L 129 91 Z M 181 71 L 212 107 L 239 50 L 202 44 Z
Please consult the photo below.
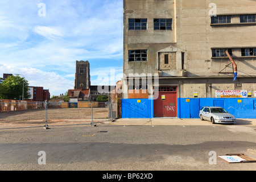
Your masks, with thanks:
M 236 118 L 234 115 L 229 114 L 222 107 L 209 107 L 204 106 L 199 111 L 200 119 L 211 121 L 213 124 L 215 123 L 227 123 L 233 124 L 236 123 Z

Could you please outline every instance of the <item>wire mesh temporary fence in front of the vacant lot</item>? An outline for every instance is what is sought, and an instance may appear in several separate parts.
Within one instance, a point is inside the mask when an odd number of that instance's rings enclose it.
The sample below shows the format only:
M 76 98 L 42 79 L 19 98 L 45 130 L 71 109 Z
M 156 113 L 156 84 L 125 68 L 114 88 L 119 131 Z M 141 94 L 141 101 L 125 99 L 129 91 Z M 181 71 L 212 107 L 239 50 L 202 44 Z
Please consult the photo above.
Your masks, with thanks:
M 93 125 L 95 122 L 113 121 L 117 118 L 113 102 L 1 102 L 0 123 L 49 124 L 65 122 L 66 125 Z

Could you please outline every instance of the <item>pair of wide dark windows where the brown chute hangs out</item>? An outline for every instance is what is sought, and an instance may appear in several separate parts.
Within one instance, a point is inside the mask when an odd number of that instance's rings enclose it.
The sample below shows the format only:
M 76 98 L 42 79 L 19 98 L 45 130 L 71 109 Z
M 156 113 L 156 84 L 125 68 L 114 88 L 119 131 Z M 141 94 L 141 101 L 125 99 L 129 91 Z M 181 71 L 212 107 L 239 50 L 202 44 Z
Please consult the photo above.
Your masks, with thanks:
M 227 57 L 226 49 L 212 49 L 212 57 Z M 232 49 L 228 49 L 232 56 Z M 256 48 L 241 48 L 241 56 L 256 56 Z

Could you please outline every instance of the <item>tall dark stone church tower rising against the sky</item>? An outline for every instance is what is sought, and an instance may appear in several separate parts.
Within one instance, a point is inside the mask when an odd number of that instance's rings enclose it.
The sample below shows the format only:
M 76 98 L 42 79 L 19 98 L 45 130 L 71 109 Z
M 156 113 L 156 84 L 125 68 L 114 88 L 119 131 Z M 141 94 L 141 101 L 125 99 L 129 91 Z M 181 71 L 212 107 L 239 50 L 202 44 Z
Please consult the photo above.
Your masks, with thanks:
M 90 63 L 76 61 L 75 89 L 90 88 Z

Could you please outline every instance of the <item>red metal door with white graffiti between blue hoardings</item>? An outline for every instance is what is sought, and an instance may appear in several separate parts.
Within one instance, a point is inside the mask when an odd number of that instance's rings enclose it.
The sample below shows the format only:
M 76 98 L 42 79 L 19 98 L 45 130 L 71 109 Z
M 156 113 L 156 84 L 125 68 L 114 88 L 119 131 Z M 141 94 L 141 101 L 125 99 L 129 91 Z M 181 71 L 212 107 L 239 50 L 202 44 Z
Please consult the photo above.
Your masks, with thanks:
M 177 117 L 176 87 L 160 87 L 154 100 L 154 117 Z

